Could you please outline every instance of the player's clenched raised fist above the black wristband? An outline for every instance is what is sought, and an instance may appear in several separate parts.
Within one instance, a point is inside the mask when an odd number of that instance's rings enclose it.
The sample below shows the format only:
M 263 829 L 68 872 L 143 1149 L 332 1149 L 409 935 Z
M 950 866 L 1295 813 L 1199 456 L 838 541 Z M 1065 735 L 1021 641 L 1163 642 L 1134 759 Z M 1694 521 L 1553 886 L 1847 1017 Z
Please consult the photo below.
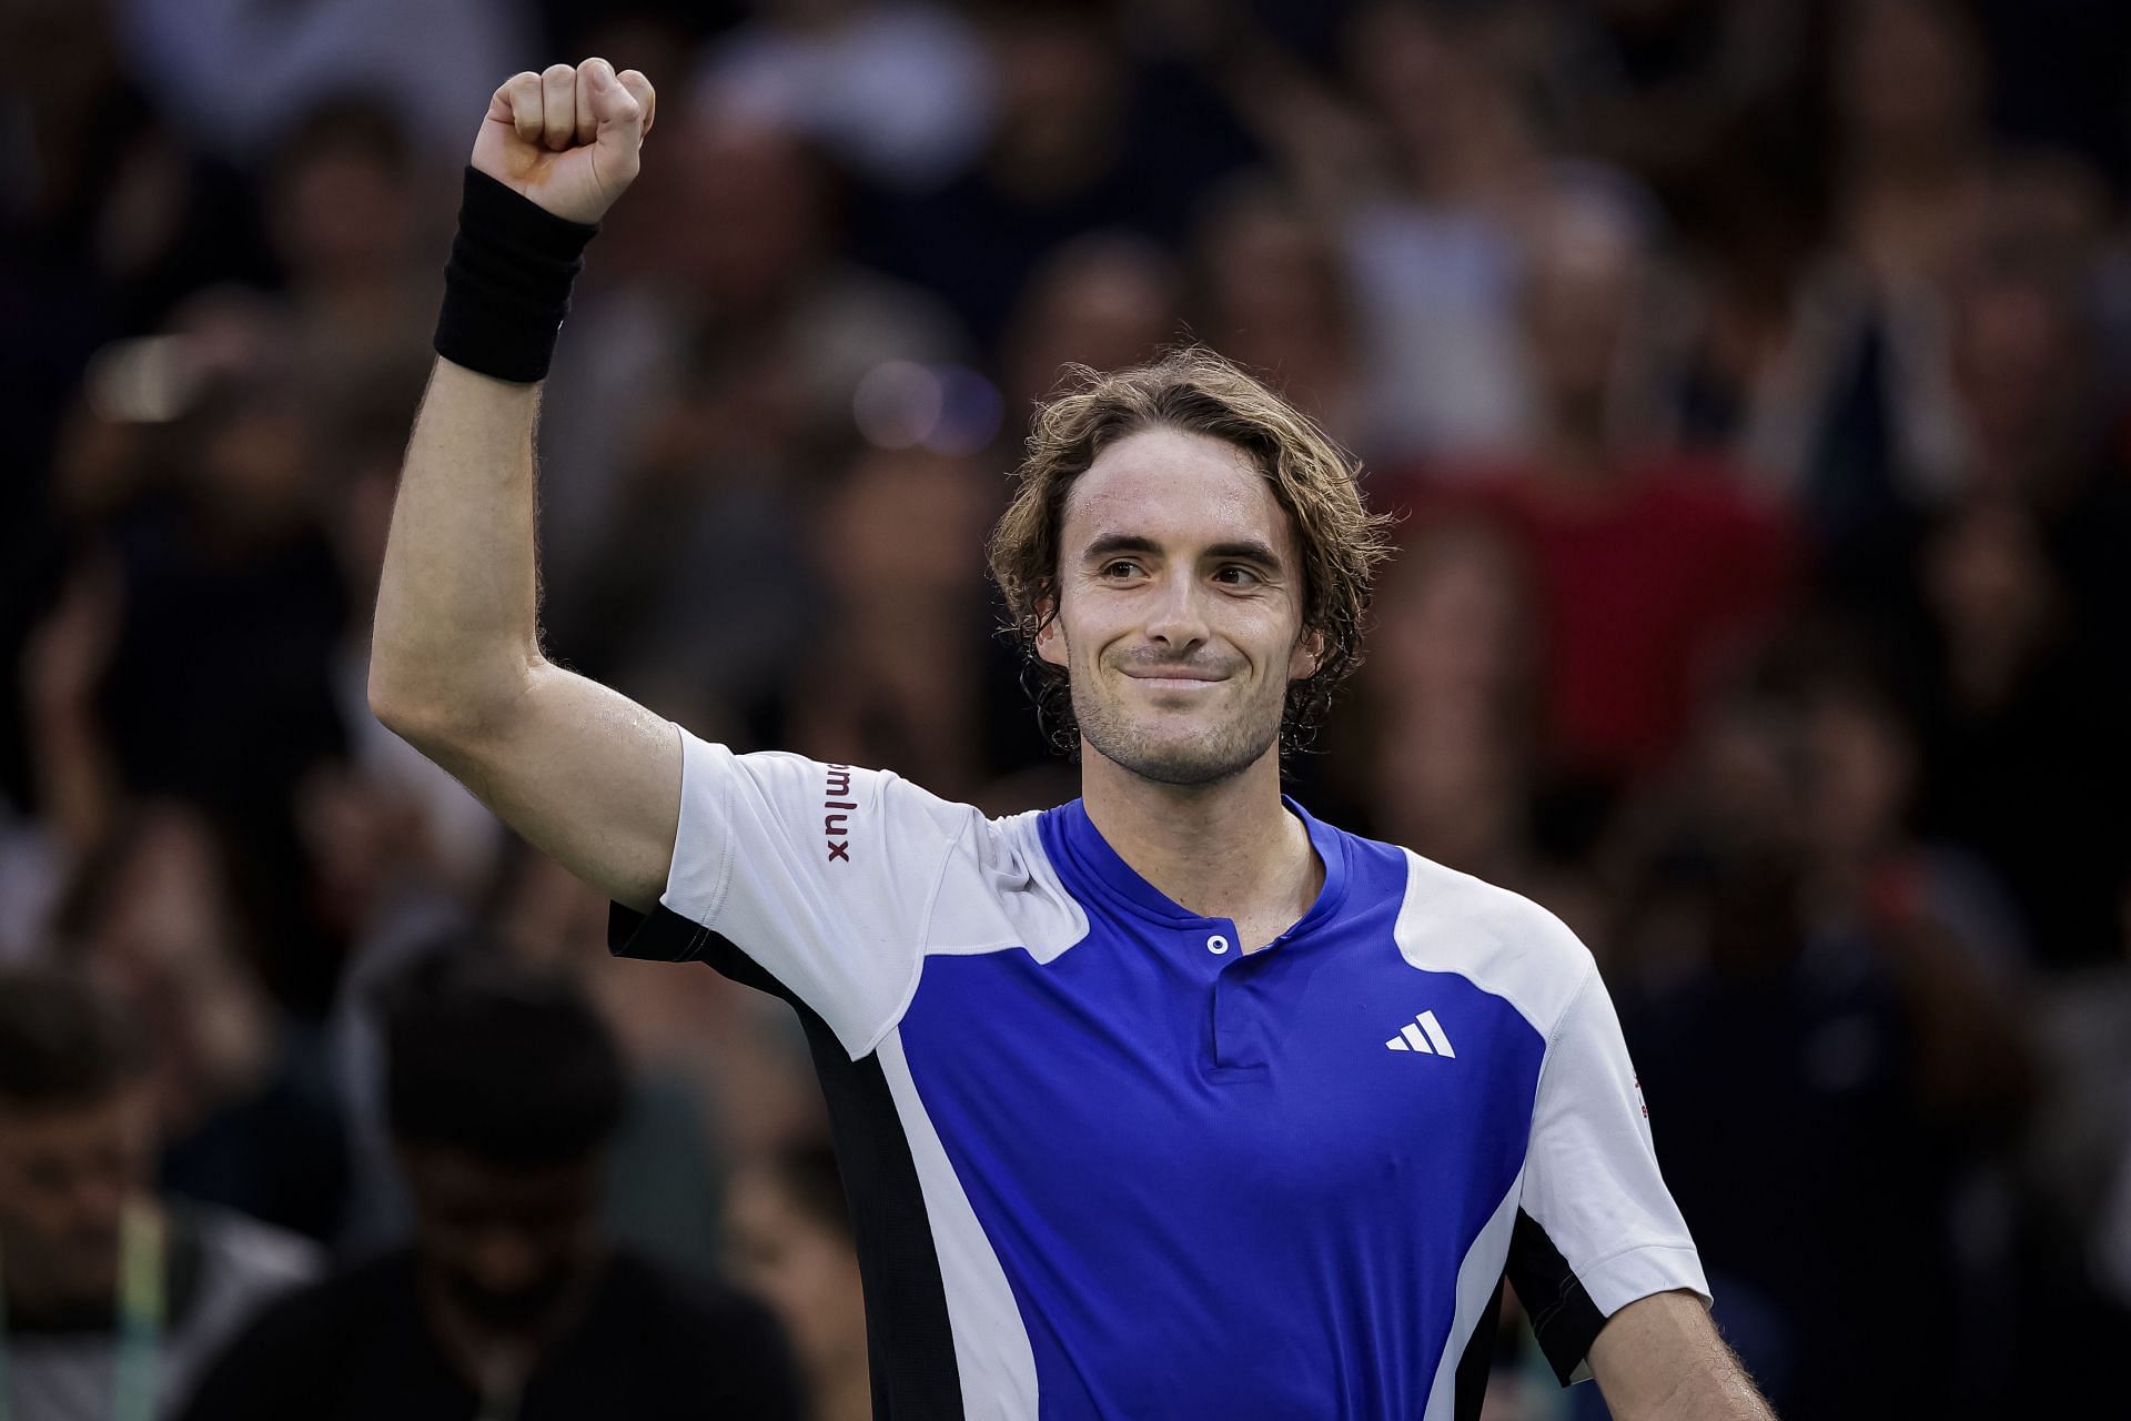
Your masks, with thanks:
M 473 166 L 556 217 L 599 222 L 637 177 L 658 96 L 605 60 L 514 75 L 488 100 Z

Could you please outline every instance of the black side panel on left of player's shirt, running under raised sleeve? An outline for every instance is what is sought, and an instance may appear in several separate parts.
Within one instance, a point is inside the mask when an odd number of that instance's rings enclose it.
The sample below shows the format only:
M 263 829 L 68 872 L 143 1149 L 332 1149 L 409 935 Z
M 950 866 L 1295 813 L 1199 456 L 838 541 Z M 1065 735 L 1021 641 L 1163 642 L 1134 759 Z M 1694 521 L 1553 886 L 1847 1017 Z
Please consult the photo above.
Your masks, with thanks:
M 710 963 L 722 976 L 780 997 L 799 1012 L 814 1052 L 814 1074 L 829 1101 L 835 1163 L 844 1174 L 850 1229 L 859 1246 L 874 1417 L 957 1421 L 963 1415 L 961 1372 L 955 1368 L 940 1253 L 880 1057 L 852 1061 L 829 1023 L 752 957 L 671 908 L 639 916 L 616 903 L 607 914 L 607 948 L 618 957 Z

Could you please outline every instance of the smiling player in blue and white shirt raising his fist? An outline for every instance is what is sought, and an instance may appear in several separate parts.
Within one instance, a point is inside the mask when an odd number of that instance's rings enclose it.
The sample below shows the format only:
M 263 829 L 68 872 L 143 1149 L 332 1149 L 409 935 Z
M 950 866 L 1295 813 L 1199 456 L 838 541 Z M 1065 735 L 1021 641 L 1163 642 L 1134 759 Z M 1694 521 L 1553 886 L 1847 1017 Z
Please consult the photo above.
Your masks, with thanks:
M 1617 1417 L 1767 1417 L 1705 1310 L 1592 957 L 1281 799 L 1381 528 L 1323 437 L 1187 354 L 1048 405 L 993 571 L 1083 799 L 985 820 L 733 756 L 563 671 L 533 418 L 652 87 L 488 109 L 394 509 L 371 705 L 620 903 L 620 950 L 791 999 L 882 1417 L 1473 1417 L 1504 1265 Z

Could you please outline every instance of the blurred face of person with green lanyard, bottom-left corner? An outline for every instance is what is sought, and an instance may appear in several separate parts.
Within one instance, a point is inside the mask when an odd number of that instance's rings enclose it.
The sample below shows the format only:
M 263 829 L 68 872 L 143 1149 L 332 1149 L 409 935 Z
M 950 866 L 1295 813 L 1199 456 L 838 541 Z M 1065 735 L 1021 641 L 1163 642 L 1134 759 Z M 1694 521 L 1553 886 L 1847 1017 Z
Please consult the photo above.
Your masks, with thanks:
M 119 1219 L 147 1187 L 153 1121 L 141 1089 L 81 1106 L 0 1099 L 0 1257 L 9 1293 L 70 1308 L 109 1300 Z

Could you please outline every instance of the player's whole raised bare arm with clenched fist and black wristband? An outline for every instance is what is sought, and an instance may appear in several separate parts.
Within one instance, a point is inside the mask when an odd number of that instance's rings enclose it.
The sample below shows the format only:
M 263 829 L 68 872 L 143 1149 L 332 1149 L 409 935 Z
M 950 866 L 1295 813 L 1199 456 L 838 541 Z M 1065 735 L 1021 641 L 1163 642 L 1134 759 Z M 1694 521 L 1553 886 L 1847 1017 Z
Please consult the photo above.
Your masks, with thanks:
M 682 752 L 665 720 L 541 656 L 533 422 L 578 254 L 635 179 L 654 102 L 605 60 L 518 75 L 490 100 L 371 646 L 386 726 L 639 910 L 673 859 Z

